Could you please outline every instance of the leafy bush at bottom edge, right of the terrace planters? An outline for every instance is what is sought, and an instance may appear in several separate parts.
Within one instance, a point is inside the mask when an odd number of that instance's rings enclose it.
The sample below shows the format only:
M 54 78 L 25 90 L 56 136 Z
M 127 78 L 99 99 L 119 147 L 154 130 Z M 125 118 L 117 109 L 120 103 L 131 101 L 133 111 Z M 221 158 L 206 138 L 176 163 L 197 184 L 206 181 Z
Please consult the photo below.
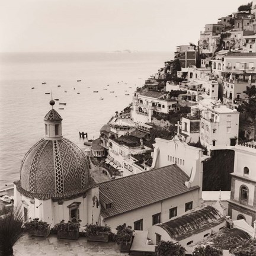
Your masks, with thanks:
M 185 256 L 185 248 L 171 241 L 160 241 L 155 248 L 156 256 Z

